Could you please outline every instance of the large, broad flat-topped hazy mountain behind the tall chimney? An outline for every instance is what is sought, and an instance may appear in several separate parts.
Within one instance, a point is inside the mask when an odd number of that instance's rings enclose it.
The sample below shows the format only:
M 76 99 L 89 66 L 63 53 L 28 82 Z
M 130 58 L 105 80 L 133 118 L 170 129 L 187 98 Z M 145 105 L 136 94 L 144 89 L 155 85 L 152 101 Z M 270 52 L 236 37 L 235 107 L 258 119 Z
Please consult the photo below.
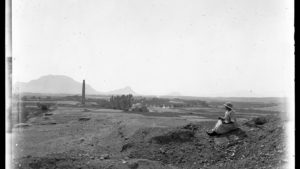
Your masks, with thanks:
M 100 94 L 86 83 L 86 94 Z M 14 90 L 30 93 L 49 93 L 49 94 L 81 94 L 82 82 L 63 75 L 47 75 L 39 79 L 31 80 L 28 83 L 17 82 Z

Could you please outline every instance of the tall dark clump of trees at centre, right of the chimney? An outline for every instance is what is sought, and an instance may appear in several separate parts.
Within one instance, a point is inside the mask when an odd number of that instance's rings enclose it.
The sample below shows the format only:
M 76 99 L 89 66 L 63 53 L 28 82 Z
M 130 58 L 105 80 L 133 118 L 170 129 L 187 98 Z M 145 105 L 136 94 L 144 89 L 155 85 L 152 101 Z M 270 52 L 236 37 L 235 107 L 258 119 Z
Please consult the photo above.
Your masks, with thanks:
M 128 111 L 133 103 L 132 94 L 121 95 L 121 96 L 111 96 L 109 99 L 111 108 Z

